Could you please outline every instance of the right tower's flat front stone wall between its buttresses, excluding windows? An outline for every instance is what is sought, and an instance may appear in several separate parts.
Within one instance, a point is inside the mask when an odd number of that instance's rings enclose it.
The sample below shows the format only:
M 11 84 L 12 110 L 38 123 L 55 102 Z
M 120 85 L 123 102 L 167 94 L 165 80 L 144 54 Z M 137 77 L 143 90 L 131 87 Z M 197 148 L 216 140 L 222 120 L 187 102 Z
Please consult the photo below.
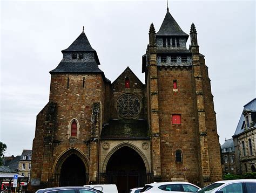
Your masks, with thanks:
M 191 67 L 158 70 L 161 171 L 163 181 L 185 180 L 199 184 L 198 125 Z M 177 80 L 178 91 L 173 91 Z M 181 125 L 172 124 L 172 114 L 181 115 Z M 176 162 L 176 150 L 182 162 Z

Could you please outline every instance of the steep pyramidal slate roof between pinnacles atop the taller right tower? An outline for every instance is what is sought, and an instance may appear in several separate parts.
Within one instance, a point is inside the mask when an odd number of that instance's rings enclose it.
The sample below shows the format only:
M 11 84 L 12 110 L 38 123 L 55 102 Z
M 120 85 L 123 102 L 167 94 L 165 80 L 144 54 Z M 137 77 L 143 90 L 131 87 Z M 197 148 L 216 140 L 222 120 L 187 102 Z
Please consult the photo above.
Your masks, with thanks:
M 169 9 L 167 9 L 167 13 L 159 31 L 157 32 L 157 36 L 186 36 L 186 39 L 188 38 L 188 35 L 181 30 L 176 20 L 172 17 Z

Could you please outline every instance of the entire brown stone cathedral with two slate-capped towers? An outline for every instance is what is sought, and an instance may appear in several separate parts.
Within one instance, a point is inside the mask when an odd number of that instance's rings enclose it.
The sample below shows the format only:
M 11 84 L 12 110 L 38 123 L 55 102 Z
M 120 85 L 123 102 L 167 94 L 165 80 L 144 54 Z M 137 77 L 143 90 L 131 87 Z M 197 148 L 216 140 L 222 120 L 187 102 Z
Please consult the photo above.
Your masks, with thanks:
M 111 183 L 128 192 L 153 181 L 221 180 L 213 95 L 193 23 L 189 49 L 188 37 L 167 8 L 157 33 L 150 25 L 145 82 L 129 67 L 111 82 L 83 30 L 50 71 L 29 189 Z

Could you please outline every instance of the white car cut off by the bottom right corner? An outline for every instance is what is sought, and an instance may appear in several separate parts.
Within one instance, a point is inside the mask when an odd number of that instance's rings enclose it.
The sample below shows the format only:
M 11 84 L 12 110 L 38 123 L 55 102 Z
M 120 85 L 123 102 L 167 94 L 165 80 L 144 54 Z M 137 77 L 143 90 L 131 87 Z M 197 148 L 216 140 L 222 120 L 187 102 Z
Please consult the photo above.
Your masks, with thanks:
M 225 180 L 218 181 L 198 191 L 198 193 L 255 193 L 256 180 Z

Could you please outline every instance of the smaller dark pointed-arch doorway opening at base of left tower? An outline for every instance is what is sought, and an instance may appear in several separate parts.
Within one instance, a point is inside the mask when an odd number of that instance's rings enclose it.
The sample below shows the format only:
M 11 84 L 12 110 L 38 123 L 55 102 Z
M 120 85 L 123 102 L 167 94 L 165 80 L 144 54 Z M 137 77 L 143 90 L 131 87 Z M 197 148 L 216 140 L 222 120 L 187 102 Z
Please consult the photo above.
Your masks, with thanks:
M 84 162 L 76 154 L 70 155 L 60 169 L 59 185 L 83 186 L 86 184 L 86 169 Z

